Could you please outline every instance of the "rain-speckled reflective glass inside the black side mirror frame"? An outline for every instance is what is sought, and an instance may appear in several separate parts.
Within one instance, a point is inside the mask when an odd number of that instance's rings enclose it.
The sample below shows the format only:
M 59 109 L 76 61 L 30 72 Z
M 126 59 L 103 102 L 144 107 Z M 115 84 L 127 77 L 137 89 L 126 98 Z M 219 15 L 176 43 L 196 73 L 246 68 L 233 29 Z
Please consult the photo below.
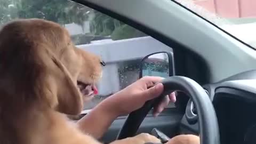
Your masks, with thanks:
M 169 77 L 169 57 L 165 52 L 151 54 L 141 62 L 143 76 Z

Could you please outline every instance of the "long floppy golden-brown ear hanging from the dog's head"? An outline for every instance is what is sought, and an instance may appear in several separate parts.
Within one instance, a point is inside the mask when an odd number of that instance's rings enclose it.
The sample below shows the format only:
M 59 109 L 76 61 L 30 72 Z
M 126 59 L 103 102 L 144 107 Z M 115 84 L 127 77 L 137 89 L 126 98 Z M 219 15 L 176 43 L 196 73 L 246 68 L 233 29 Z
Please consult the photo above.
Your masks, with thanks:
M 44 49 L 41 58 L 47 66 L 45 76 L 46 99 L 55 110 L 67 115 L 78 115 L 83 108 L 82 95 L 79 93 L 76 79 L 60 59 L 49 49 Z

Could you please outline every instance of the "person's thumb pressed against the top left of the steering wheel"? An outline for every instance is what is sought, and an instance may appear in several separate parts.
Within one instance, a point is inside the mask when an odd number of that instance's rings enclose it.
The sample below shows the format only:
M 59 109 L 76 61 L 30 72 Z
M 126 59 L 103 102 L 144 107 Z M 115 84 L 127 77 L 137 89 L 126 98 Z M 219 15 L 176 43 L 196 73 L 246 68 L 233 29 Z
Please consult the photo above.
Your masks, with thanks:
M 158 83 L 153 87 L 143 91 L 142 97 L 145 97 L 145 100 L 151 100 L 158 97 L 164 90 L 164 85 L 162 83 Z

